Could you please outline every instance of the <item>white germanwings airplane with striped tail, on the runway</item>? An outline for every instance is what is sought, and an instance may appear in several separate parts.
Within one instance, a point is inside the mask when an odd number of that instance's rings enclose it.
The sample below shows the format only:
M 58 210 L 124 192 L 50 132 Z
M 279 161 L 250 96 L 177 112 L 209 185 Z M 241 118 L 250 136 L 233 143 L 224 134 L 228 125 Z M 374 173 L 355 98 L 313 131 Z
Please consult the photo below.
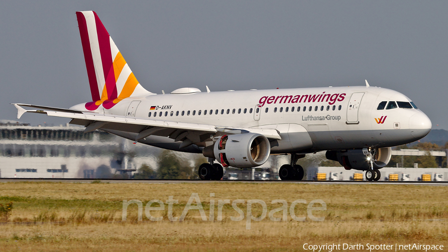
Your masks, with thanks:
M 302 180 L 297 164 L 326 151 L 345 169 L 379 180 L 391 147 L 431 131 L 431 120 L 405 95 L 365 86 L 201 92 L 179 88 L 147 91 L 135 78 L 94 11 L 77 11 L 92 101 L 70 109 L 13 104 L 24 113 L 71 119 L 84 132 L 101 129 L 160 148 L 202 153 L 203 180 L 220 180 L 224 167 L 253 168 L 271 154 L 290 154 L 282 180 Z M 27 108 L 27 109 L 25 109 Z M 216 161 L 216 162 L 215 162 Z

